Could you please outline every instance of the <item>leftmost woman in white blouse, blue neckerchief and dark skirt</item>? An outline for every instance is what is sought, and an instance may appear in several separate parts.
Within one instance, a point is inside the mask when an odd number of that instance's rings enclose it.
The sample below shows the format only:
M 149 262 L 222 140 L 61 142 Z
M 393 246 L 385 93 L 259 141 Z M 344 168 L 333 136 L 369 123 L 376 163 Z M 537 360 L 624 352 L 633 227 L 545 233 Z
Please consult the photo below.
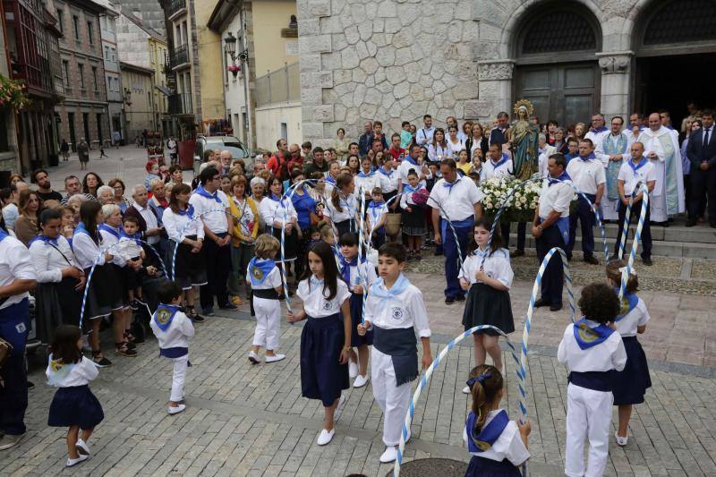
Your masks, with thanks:
M 85 276 L 77 267 L 70 243 L 60 234 L 62 214 L 45 209 L 39 216 L 41 234 L 30 241 L 32 265 L 38 272 L 35 289 L 38 337 L 49 344 L 55 328 L 79 324 Z M 62 299 L 60 299 L 62 297 Z

